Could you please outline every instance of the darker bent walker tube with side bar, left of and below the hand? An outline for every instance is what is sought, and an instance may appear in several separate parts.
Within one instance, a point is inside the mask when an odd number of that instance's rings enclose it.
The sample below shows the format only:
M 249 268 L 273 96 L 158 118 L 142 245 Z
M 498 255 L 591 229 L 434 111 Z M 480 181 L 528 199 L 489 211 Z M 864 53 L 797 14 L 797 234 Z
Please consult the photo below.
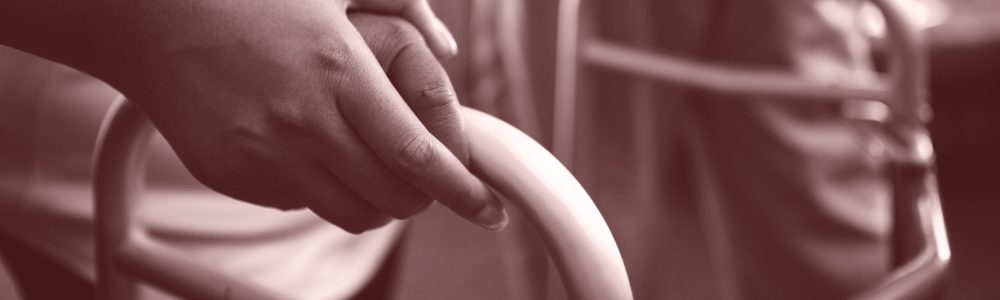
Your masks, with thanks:
M 136 280 L 189 299 L 284 299 L 189 261 L 149 241 L 136 218 L 153 126 L 124 98 L 101 128 L 95 151 L 97 299 L 138 298 Z

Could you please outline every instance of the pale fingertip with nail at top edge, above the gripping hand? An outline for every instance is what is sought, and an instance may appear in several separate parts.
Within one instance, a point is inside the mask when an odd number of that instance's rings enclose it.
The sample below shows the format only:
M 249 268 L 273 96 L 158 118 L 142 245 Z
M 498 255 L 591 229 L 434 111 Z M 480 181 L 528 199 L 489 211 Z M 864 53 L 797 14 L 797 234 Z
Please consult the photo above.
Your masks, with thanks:
M 403 8 L 403 17 L 413 23 L 420 33 L 427 38 L 427 45 L 439 58 L 448 58 L 458 54 L 458 43 L 444 26 L 427 0 L 410 1 Z

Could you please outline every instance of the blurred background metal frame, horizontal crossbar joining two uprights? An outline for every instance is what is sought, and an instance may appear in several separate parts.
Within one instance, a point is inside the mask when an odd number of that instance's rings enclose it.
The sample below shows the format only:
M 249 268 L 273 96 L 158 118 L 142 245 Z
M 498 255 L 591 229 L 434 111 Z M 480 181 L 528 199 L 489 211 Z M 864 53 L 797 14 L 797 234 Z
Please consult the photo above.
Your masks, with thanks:
M 898 0 L 871 0 L 883 13 L 890 41 L 890 72 L 887 80 L 868 86 L 809 81 L 792 74 L 709 65 L 671 56 L 651 53 L 601 40 L 579 37 L 579 0 L 564 0 L 560 4 L 559 40 L 557 44 L 556 108 L 554 145 L 564 161 L 572 157 L 572 122 L 575 80 L 569 72 L 583 62 L 621 72 L 651 77 L 666 82 L 690 85 L 708 90 L 771 95 L 806 101 L 843 101 L 864 99 L 883 102 L 891 115 L 884 127 L 895 143 L 896 155 L 924 153 L 926 167 L 919 181 L 904 184 L 917 186 L 910 199 L 894 203 L 897 212 L 913 214 L 922 238 L 918 254 L 892 272 L 885 280 L 862 293 L 860 299 L 907 299 L 926 296 L 931 286 L 939 285 L 950 264 L 951 252 L 941 211 L 940 198 L 933 170 L 933 149 L 924 129 L 930 118 L 927 101 L 927 64 L 924 42 L 918 29 L 911 24 Z M 577 45 L 579 52 L 570 49 Z M 579 57 L 577 57 L 579 55 Z M 559 110 L 562 108 L 562 110 Z M 575 108 L 574 108 L 575 109 Z M 905 159 L 905 158 L 904 158 Z M 569 161 L 567 161 L 569 162 Z M 898 162 L 897 162 L 898 163 Z M 904 197 L 905 198 L 905 197 Z M 916 208 L 916 211 L 913 209 Z M 905 217 L 899 216 L 898 218 Z

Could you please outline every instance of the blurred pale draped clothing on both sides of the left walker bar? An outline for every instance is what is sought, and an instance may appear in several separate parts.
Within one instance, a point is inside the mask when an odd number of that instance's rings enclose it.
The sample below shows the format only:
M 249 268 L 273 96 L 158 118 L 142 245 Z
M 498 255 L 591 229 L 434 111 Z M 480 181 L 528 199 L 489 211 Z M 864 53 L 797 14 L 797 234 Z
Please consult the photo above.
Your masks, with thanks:
M 0 230 L 91 280 L 91 157 L 116 95 L 78 71 L 0 48 Z M 151 236 L 295 298 L 353 296 L 404 226 L 352 235 L 308 210 L 239 202 L 197 183 L 162 137 L 151 152 L 141 210 Z

